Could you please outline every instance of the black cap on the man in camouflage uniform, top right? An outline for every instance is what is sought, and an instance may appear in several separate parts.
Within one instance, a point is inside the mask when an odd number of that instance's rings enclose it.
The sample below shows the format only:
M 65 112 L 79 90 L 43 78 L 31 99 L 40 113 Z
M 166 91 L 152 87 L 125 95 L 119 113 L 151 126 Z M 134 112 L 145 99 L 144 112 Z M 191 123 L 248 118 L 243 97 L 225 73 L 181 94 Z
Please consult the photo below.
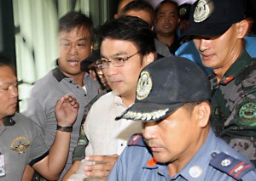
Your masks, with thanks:
M 245 0 L 199 0 L 191 7 L 189 28 L 182 38 L 218 37 L 246 18 Z

